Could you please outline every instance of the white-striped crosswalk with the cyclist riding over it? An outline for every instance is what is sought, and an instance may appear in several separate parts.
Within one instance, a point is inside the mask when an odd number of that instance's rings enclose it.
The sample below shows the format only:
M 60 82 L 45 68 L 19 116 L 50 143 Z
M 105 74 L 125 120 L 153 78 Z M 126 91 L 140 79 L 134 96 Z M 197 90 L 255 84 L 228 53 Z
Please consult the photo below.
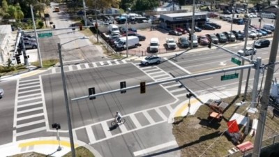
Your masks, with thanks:
M 73 129 L 73 134 L 77 140 L 88 144 L 96 144 L 119 135 L 164 123 L 172 111 L 173 108 L 171 105 L 153 107 L 149 110 L 123 115 L 123 119 L 126 119 L 125 124 L 121 124 L 113 130 L 110 130 L 110 127 L 114 119 L 108 119 L 107 121 L 100 121 L 96 124 L 75 128 Z M 84 136 L 84 133 L 87 136 Z

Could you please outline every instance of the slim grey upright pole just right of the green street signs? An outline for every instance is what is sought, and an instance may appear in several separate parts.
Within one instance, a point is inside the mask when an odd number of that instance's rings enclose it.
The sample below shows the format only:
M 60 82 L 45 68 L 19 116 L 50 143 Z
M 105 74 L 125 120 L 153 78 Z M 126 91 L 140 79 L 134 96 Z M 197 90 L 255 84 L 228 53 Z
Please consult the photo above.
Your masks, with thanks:
M 248 14 L 248 8 L 247 8 L 247 13 Z M 250 23 L 250 16 L 248 16 L 247 20 L 245 20 L 245 27 L 244 27 L 244 34 L 245 34 L 245 42 L 244 42 L 244 48 L 243 48 L 243 54 L 246 54 L 246 47 L 247 47 L 247 40 L 248 40 L 248 28 L 249 28 L 249 23 Z M 245 60 L 242 59 L 241 61 L 241 66 L 243 66 L 245 63 Z M 237 96 L 240 96 L 241 94 L 241 87 L 242 87 L 242 79 L 243 79 L 243 69 L 240 70 L 239 74 L 239 90 L 237 91 Z

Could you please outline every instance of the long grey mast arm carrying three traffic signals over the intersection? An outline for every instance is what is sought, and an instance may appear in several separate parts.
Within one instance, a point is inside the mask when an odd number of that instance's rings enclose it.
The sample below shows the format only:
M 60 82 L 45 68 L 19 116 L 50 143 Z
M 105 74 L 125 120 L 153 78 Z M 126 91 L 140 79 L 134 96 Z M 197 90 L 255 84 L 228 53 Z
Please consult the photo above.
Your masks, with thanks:
M 197 74 L 193 74 L 193 75 L 185 75 L 185 76 L 181 76 L 181 77 L 170 78 L 170 79 L 161 80 L 161 81 L 158 81 L 158 82 L 149 82 L 149 83 L 146 83 L 145 85 L 147 87 L 147 86 L 152 86 L 152 85 L 156 85 L 156 84 L 162 84 L 162 83 L 165 83 L 165 82 L 178 81 L 178 80 L 183 80 L 183 79 L 188 79 L 188 78 L 193 78 L 193 77 L 200 77 L 200 76 L 204 76 L 204 75 L 212 75 L 212 74 L 216 74 L 216 73 L 225 73 L 225 72 L 228 72 L 228 71 L 235 71 L 235 70 L 253 68 L 253 67 L 255 67 L 254 64 L 249 64 L 249 65 L 244 65 L 244 66 L 236 66 L 236 67 L 225 68 L 225 69 L 221 69 L 221 70 L 213 70 L 213 71 L 209 71 L 209 72 L 205 72 L 205 73 L 197 73 Z M 123 89 L 115 89 L 115 90 L 112 90 L 112 91 L 105 91 L 105 92 L 102 92 L 102 93 L 99 93 L 99 94 L 93 94 L 91 96 L 82 96 L 82 97 L 79 97 L 79 98 L 73 98 L 71 100 L 72 101 L 73 100 L 81 100 L 81 99 L 92 98 L 92 97 L 96 97 L 96 96 L 103 96 L 103 95 L 106 95 L 106 94 L 113 94 L 113 93 L 116 93 L 116 92 L 119 92 L 119 91 L 126 91 L 126 90 L 137 89 L 137 88 L 140 88 L 140 84 L 132 86 L 132 87 L 123 88 Z

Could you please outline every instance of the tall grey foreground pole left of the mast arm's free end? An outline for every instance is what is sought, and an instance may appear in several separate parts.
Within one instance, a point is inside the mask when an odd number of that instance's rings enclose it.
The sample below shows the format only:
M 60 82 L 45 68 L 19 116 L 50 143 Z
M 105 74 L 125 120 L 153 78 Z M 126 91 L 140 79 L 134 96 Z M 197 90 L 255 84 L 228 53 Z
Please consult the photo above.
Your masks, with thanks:
M 67 94 L 67 86 L 66 86 L 66 78 L 64 73 L 64 67 L 63 67 L 63 60 L 62 60 L 62 52 L 61 52 L 61 44 L 58 43 L 58 51 L 59 51 L 59 60 L 60 60 L 60 67 L 61 67 L 61 77 L 62 77 L 62 83 L 63 83 L 63 93 L 65 98 L 65 105 L 66 105 L 66 113 L 67 113 L 67 120 L 68 120 L 68 130 L 69 130 L 69 136 L 70 136 L 70 149 L 72 151 L 72 157 L 75 157 L 75 144 L 73 139 L 73 130 L 72 130 L 72 122 L 70 120 L 70 108 L 69 108 L 69 102 L 68 102 L 68 94 Z

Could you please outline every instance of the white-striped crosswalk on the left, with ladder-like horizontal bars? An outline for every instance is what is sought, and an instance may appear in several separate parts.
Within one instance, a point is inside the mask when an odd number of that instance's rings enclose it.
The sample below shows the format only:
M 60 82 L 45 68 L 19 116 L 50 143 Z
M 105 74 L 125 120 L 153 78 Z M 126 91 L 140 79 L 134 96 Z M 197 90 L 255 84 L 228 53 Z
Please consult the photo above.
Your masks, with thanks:
M 46 126 L 48 126 L 46 116 L 40 77 L 17 80 L 13 141 L 20 140 L 25 135 L 46 130 Z

